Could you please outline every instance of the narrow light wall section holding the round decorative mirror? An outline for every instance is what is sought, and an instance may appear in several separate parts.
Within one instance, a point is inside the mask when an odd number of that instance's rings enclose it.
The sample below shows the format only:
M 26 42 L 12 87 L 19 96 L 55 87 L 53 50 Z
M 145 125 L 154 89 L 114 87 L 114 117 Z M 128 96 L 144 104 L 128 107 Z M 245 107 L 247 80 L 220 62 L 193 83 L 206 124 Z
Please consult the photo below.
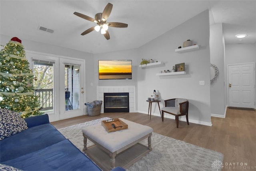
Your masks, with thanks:
M 222 23 L 210 26 L 210 62 L 217 66 L 219 76 L 210 85 L 211 113 L 212 116 L 225 116 L 225 87 L 224 80 L 226 70 L 224 69 L 224 39 Z M 211 78 L 212 79 L 212 78 Z

